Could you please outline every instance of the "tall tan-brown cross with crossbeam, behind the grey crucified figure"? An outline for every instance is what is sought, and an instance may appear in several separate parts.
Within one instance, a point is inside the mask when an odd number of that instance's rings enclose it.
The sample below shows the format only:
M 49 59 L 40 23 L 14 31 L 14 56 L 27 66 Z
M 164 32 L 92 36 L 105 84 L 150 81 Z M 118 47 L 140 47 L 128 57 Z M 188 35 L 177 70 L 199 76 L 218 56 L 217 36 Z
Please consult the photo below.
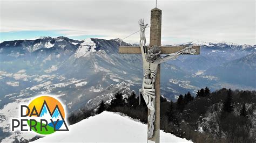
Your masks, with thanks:
M 150 26 L 150 45 L 161 46 L 161 10 L 158 8 L 154 8 L 151 10 L 151 26 Z M 161 54 L 171 54 L 184 49 L 186 46 L 161 46 Z M 195 54 L 199 54 L 200 46 L 192 46 L 192 48 L 196 49 L 197 52 Z M 136 46 L 120 46 L 119 53 L 121 54 L 142 54 L 140 47 Z M 154 83 L 156 89 L 156 103 L 155 103 L 155 116 L 156 119 L 154 121 L 154 134 L 153 138 L 148 138 L 147 142 L 159 142 L 159 131 L 160 131 L 160 65 L 157 70 L 156 82 Z

